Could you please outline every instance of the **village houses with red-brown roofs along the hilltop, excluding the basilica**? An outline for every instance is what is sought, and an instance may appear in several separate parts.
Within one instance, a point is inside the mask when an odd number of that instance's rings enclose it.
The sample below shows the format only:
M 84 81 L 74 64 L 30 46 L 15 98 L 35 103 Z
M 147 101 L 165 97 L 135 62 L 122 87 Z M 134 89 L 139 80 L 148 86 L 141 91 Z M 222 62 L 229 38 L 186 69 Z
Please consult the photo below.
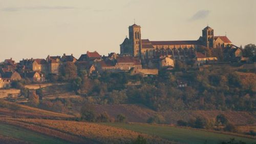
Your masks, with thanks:
M 224 49 L 223 53 L 226 59 L 233 61 L 240 60 L 242 57 L 241 49 L 233 45 Z M 197 65 L 218 61 L 217 57 L 206 57 L 205 53 L 197 52 L 193 48 L 182 50 L 157 48 L 154 55 L 155 57 L 147 61 L 143 61 L 141 57 L 119 55 L 114 52 L 109 53 L 108 56 L 101 56 L 97 51 L 87 51 L 86 54 L 81 54 L 79 59 L 76 59 L 73 54 L 63 54 L 62 56 L 48 55 L 46 59 L 23 59 L 16 63 L 11 58 L 0 65 L 0 87 L 4 85 L 3 83 L 22 78 L 28 78 L 31 81 L 45 81 L 47 75 L 58 75 L 60 66 L 67 62 L 74 63 L 78 70 L 86 70 L 89 75 L 95 71 L 125 71 L 147 76 L 157 75 L 159 69 L 173 69 L 177 60 L 191 61 L 194 59 Z

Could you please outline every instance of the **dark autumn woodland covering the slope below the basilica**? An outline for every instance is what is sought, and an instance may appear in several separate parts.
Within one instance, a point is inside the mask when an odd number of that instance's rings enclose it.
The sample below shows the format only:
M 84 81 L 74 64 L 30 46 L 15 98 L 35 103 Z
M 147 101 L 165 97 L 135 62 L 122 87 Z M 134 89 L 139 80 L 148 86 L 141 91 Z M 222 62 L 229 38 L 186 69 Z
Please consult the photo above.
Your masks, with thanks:
M 141 103 L 158 111 L 255 110 L 254 83 L 244 84 L 240 74 L 229 68 L 160 71 L 155 77 L 131 76 L 124 72 L 103 72 L 91 77 L 78 72 L 77 75 L 71 80 L 72 90 L 95 104 Z M 187 87 L 179 88 L 177 81 L 180 80 Z

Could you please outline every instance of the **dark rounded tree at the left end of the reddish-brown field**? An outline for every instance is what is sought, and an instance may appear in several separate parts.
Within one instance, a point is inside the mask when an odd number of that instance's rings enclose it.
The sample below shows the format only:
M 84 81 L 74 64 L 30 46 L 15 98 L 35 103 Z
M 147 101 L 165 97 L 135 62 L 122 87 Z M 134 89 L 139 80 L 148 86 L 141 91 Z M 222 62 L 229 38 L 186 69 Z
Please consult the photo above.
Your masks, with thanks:
M 95 110 L 93 105 L 88 103 L 84 104 L 81 107 L 80 113 L 81 113 L 82 120 L 86 120 L 88 122 L 95 122 L 96 116 L 95 116 Z

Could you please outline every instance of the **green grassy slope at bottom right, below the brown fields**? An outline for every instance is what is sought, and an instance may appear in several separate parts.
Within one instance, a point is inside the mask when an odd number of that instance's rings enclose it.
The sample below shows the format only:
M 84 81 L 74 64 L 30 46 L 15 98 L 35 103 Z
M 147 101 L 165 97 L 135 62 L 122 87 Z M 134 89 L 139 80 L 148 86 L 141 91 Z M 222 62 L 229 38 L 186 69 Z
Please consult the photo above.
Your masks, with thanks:
M 169 140 L 189 144 L 204 143 L 206 140 L 207 144 L 216 144 L 219 143 L 220 141 L 229 140 L 230 138 L 236 138 L 237 140 L 242 140 L 248 143 L 252 143 L 255 141 L 255 139 L 170 126 L 122 123 L 104 123 L 104 125 L 125 128 L 145 134 L 157 135 Z

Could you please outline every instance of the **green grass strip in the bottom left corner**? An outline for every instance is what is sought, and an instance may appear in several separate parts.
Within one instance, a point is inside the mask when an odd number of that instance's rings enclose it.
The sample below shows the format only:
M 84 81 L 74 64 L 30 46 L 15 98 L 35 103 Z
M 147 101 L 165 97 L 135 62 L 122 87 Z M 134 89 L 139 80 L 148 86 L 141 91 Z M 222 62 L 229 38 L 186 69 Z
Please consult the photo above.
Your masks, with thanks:
M 0 129 L 0 135 L 22 139 L 24 141 L 28 141 L 31 143 L 69 143 L 58 138 L 42 135 L 33 131 L 25 130 L 11 125 L 0 124 Z

